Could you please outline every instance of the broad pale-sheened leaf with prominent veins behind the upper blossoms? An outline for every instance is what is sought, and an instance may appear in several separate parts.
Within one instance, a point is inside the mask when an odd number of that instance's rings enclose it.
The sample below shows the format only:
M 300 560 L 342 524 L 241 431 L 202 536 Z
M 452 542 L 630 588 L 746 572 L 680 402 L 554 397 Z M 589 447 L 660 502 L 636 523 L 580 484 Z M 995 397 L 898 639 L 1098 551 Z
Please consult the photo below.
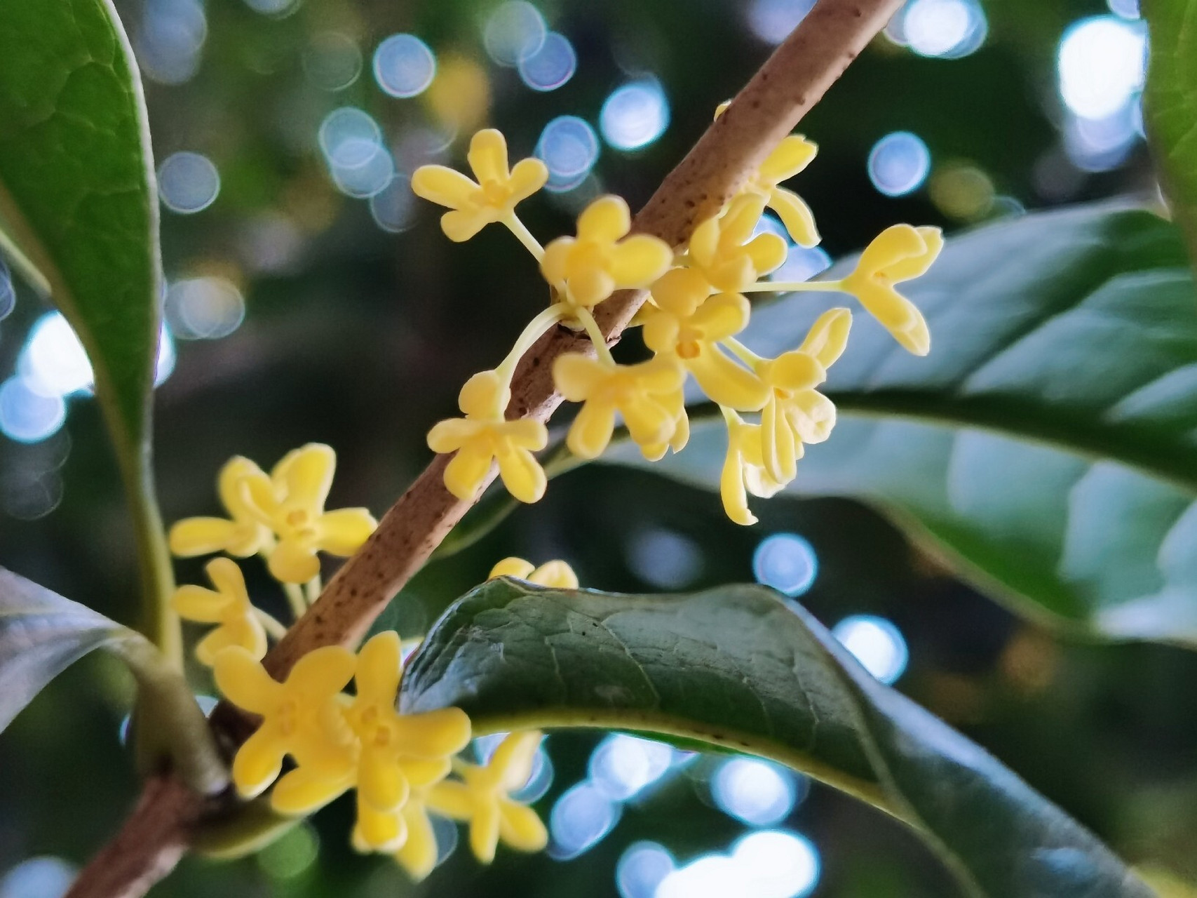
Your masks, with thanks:
M 839 423 L 788 492 L 879 505 L 1047 623 L 1197 644 L 1197 291 L 1175 229 L 1108 207 L 1028 214 L 949 239 L 904 286 L 930 356 L 858 313 L 826 384 Z M 742 338 L 790 350 L 852 304 L 791 295 Z M 718 489 L 724 451 L 709 415 L 650 467 Z M 612 460 L 646 465 L 628 447 Z

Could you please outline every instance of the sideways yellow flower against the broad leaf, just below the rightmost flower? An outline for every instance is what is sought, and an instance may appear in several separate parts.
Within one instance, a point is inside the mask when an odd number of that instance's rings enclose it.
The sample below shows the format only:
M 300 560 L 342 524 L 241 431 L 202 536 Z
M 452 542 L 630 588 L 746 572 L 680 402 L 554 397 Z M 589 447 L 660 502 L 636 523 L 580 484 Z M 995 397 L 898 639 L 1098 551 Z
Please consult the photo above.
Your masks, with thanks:
M 757 370 L 770 387 L 761 409 L 761 459 L 768 477 L 788 484 L 797 474 L 803 443 L 821 443 L 836 425 L 836 406 L 815 387 L 847 344 L 852 314 L 831 309 L 815 321 L 802 346 Z

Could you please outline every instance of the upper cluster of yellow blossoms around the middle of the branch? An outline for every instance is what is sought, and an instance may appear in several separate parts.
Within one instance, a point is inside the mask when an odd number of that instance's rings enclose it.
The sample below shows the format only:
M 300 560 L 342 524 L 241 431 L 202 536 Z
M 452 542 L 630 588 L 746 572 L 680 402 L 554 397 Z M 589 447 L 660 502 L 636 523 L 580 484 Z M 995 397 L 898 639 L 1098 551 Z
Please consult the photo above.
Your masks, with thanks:
M 906 350 L 918 356 L 930 350 L 923 315 L 895 285 L 923 274 L 935 261 L 943 245 L 936 227 L 886 229 L 840 280 L 761 280 L 782 266 L 788 253 L 779 235 L 758 232 L 766 208 L 777 213 L 795 243 L 813 247 L 820 239 L 810 208 L 779 187 L 815 152 L 815 145 L 800 135 L 785 138 L 743 189 L 717 216 L 701 222 L 676 251 L 656 237 L 630 235 L 631 214 L 619 196 L 598 198 L 579 216 L 577 236 L 541 248 L 515 206 L 545 184 L 548 171 L 539 159 L 509 168 L 506 142 L 493 129 L 480 131 L 470 141 L 468 160 L 475 180 L 443 165 L 418 169 L 412 189 L 451 210 L 440 219 L 450 239 L 468 239 L 490 223 L 506 225 L 536 257 L 553 295 L 508 357 L 462 387 L 463 417 L 443 420 L 429 432 L 435 453 L 456 453 L 445 467 L 445 487 L 461 499 L 473 499 L 497 462 L 515 498 L 536 502 L 543 496 L 546 477 L 534 453 L 547 445 L 548 431 L 536 420 L 508 420 L 506 409 L 519 359 L 561 323 L 584 329 L 596 353 L 596 358 L 565 353 L 553 365 L 558 392 L 582 404 L 566 438 L 570 450 L 583 459 L 601 455 L 619 415 L 646 459 L 680 451 L 689 437 L 683 388 L 693 376 L 728 426 L 721 480 L 724 509 L 737 523 L 755 523 L 747 494 L 772 496 L 794 480 L 803 447 L 826 439 L 836 424 L 836 407 L 818 388 L 844 351 L 851 313 L 825 313 L 796 350 L 762 358 L 736 340 L 748 326 L 746 293 L 850 293 Z M 595 322 L 595 305 L 621 289 L 649 292 L 634 322 L 643 326 L 644 342 L 654 353 L 648 362 L 616 363 Z M 745 413 L 759 418 L 746 421 Z

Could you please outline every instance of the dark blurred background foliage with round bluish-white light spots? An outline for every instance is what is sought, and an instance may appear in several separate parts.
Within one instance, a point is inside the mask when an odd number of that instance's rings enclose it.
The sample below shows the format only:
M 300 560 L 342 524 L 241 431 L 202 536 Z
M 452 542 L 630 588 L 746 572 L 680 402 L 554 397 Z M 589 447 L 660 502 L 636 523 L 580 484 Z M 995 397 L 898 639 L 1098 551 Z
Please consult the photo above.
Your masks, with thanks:
M 636 207 L 809 6 L 119 0 L 163 198 L 166 520 L 215 511 L 229 456 L 271 465 L 311 441 L 339 453 L 333 505 L 381 514 L 426 462 L 424 435 L 462 381 L 546 301 L 502 229 L 450 244 L 411 195 L 411 170 L 460 160 L 488 123 L 514 158 L 537 152 L 553 171 L 558 189 L 521 210 L 541 239 L 571 231 L 600 192 Z M 809 275 L 899 220 L 950 232 L 1026 208 L 1152 199 L 1144 43 L 1134 0 L 911 0 L 802 123 L 820 154 L 795 187 L 825 241 L 795 249 L 790 271 Z M 0 563 L 132 621 L 135 559 L 86 363 L 25 285 L 0 279 Z M 1162 893 L 1193 893 L 1197 657 L 1057 639 L 855 503 L 774 499 L 758 512 L 740 528 L 709 493 L 584 467 L 431 564 L 388 623 L 423 632 L 511 553 L 565 558 L 585 585 L 613 590 L 755 577 L 801 595 L 880 678 L 1156 872 Z M 254 565 L 251 589 L 271 607 Z M 200 564 L 178 572 L 195 581 Z M 119 738 L 129 691 L 115 663 L 87 659 L 0 738 L 0 898 L 55 894 L 123 818 L 136 790 Z M 190 857 L 156 893 L 953 894 L 901 826 L 786 771 L 626 736 L 546 745 L 529 787 L 552 824 L 546 855 L 500 851 L 487 869 L 446 853 L 413 886 L 387 858 L 353 855 L 342 800 L 256 857 Z M 737 850 L 772 858 L 772 885 L 729 891 Z

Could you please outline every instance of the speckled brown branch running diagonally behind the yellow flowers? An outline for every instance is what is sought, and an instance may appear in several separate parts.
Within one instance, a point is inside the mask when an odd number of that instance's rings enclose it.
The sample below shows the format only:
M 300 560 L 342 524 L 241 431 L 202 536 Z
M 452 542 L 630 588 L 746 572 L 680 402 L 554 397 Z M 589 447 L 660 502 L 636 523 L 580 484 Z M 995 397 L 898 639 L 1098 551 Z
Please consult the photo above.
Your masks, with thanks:
M 680 247 L 694 226 L 716 214 L 765 157 L 843 74 L 901 6 L 903 0 L 819 0 L 785 42 L 735 97 L 643 210 L 633 229 Z M 609 344 L 644 302 L 624 291 L 596 309 Z M 560 396 L 553 360 L 567 351 L 593 351 L 565 328 L 546 334 L 525 356 L 512 382 L 510 417 L 547 420 Z M 281 678 L 322 645 L 356 647 L 387 603 L 424 565 L 473 502 L 442 481 L 448 456 L 437 456 L 378 523 L 365 545 L 338 571 L 320 600 L 266 656 Z M 494 472 L 487 480 L 494 478 Z M 213 726 L 238 741 L 243 721 L 223 706 Z M 151 779 L 133 815 L 80 874 L 68 898 L 139 898 L 182 856 L 203 802 L 175 781 Z

